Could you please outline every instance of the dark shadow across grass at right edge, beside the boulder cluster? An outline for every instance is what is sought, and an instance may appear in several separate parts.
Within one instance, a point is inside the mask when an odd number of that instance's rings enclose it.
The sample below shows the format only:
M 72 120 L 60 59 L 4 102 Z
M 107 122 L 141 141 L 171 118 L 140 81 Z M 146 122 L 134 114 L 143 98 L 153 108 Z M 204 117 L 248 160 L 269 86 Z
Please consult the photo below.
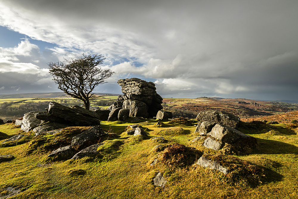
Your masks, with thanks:
M 298 154 L 298 147 L 280 141 L 256 138 L 258 146 L 254 154 Z

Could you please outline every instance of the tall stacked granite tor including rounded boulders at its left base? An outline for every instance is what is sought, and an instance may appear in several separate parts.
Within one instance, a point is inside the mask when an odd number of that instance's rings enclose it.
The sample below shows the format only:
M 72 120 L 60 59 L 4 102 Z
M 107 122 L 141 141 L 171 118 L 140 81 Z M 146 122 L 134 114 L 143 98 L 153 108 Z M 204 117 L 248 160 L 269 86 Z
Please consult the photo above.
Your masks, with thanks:
M 117 101 L 109 107 L 108 120 L 124 120 L 127 117 L 155 117 L 162 107 L 162 97 L 156 93 L 153 82 L 138 78 L 120 79 L 117 82 L 124 95 L 119 95 Z M 123 111 L 122 109 L 128 109 Z

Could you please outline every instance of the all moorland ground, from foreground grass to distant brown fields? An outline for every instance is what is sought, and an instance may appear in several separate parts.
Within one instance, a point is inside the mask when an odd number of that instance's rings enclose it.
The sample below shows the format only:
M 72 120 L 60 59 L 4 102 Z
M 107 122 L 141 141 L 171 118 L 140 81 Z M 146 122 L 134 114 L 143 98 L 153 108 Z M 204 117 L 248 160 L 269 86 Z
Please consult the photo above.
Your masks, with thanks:
M 22 103 L 34 104 L 49 99 L 66 105 L 73 100 L 65 96 L 22 99 L 26 101 L 13 98 L 1 100 L 2 104 L 10 100 L 13 102 L 11 107 L 19 107 Z M 94 101 L 93 106 L 104 109 L 107 106 L 95 106 L 95 103 L 115 99 L 117 96 L 104 96 Z M 239 104 L 238 101 L 247 104 Z M 291 123 L 298 119 L 295 111 L 297 104 L 211 98 L 166 98 L 163 102 L 164 109 L 174 110 L 176 117 L 184 116 L 189 121 L 166 121 L 156 126 L 156 119 L 141 119 L 138 124 L 145 129 L 147 137 L 127 134 L 133 118 L 101 121 L 101 127 L 108 134 L 100 142 L 107 144 L 100 148 L 99 156 L 80 160 L 51 161 L 47 155 L 57 145 L 69 142 L 65 139 L 66 135 L 78 135 L 91 127 L 69 127 L 59 134 L 40 139 L 33 132 L 22 132 L 20 126 L 15 124 L 0 125 L 0 142 L 14 135 L 26 135 L 21 141 L 0 144 L 0 155 L 11 154 L 15 157 L 0 163 L 0 198 L 10 194 L 8 187 L 19 189 L 19 193 L 12 198 L 298 197 L 298 124 Z M 256 138 L 258 145 L 249 153 L 235 152 L 230 156 L 247 161 L 259 170 L 254 172 L 249 170 L 248 164 L 231 161 L 237 169 L 232 175 L 224 175 L 196 164 L 202 154 L 219 153 L 205 148 L 202 139 L 194 141 L 198 134 L 194 133 L 197 121 L 193 115 L 206 109 L 221 109 L 242 116 L 238 130 Z M 244 122 L 265 119 L 279 121 L 279 124 Z M 153 139 L 156 137 L 163 139 Z M 192 150 L 194 158 L 181 161 L 189 153 L 177 152 L 170 159 L 165 159 L 164 154 L 169 151 L 169 146 L 176 143 Z M 157 145 L 164 150 L 156 150 Z M 151 165 L 155 159 L 157 163 Z M 158 172 L 167 181 L 165 186 L 154 185 L 153 178 Z

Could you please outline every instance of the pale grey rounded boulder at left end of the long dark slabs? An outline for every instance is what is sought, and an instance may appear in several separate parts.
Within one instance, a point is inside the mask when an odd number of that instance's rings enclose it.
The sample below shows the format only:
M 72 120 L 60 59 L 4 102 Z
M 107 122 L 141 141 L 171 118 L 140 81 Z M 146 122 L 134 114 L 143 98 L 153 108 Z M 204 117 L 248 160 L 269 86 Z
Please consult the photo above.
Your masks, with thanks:
M 44 124 L 44 120 L 39 120 L 35 117 L 35 115 L 39 113 L 44 113 L 45 111 L 32 111 L 24 114 L 23 122 L 21 126 L 21 130 L 25 132 L 29 132 L 30 130 L 34 129 L 35 127 Z

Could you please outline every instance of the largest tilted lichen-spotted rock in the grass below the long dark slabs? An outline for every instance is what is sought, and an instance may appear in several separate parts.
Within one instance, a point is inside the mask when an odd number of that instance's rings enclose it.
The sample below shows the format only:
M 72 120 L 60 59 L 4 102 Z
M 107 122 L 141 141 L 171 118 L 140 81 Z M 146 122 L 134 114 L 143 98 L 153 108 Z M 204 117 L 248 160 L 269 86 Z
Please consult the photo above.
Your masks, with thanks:
M 100 126 L 95 126 L 80 135 L 77 135 L 72 138 L 72 148 L 75 150 L 80 150 L 82 147 L 90 146 L 89 143 L 93 143 L 94 141 L 99 140 L 99 138 L 103 137 L 106 133 L 103 132 L 103 129 Z

